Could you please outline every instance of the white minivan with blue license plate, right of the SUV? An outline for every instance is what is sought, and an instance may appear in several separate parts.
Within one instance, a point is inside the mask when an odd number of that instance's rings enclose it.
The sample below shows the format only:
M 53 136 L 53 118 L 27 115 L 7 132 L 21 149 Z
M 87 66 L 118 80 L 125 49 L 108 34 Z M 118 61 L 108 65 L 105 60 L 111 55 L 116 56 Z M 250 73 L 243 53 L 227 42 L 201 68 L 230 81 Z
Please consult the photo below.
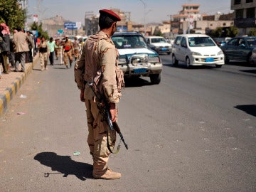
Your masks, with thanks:
M 185 34 L 175 38 L 172 47 L 173 65 L 178 61 L 191 65 L 215 65 L 221 68 L 224 65 L 223 51 L 210 36 L 204 34 Z

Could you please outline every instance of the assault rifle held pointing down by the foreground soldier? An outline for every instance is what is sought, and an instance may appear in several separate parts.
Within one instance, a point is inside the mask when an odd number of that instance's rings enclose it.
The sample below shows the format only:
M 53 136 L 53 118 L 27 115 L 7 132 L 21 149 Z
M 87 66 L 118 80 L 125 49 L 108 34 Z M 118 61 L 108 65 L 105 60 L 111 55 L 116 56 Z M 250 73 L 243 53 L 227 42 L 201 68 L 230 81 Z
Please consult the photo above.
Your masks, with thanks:
M 112 130 L 112 131 L 115 130 L 119 134 L 122 142 L 124 143 L 125 148 L 128 149 L 128 145 L 124 142 L 124 137 L 122 136 L 121 130 L 120 130 L 117 122 L 111 121 L 110 106 L 105 98 L 105 95 L 103 95 L 99 91 L 99 89 L 94 81 L 88 82 L 88 85 L 92 89 L 92 92 L 95 94 L 97 107 L 99 108 L 105 121 L 107 122 L 108 126 L 110 127 L 110 130 Z M 109 148 L 109 146 L 108 146 L 108 148 Z

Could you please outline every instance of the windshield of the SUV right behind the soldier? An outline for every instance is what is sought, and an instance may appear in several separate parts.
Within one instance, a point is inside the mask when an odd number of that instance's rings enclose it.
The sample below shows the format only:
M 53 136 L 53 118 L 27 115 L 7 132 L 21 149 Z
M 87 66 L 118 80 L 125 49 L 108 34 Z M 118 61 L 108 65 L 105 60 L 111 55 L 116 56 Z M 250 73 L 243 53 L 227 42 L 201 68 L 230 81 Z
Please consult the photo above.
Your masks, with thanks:
M 146 42 L 142 36 L 112 36 L 116 48 L 146 48 Z

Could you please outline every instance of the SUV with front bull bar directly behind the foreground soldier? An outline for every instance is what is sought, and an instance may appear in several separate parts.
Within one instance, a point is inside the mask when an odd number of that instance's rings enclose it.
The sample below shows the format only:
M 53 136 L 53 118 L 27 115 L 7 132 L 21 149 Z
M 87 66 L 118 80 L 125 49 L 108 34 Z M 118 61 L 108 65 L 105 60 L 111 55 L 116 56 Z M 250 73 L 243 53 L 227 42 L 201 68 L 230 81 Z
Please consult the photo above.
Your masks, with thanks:
M 161 81 L 162 63 L 159 54 L 146 45 L 139 32 L 115 32 L 112 36 L 119 52 L 119 68 L 124 76 L 148 76 L 153 84 Z

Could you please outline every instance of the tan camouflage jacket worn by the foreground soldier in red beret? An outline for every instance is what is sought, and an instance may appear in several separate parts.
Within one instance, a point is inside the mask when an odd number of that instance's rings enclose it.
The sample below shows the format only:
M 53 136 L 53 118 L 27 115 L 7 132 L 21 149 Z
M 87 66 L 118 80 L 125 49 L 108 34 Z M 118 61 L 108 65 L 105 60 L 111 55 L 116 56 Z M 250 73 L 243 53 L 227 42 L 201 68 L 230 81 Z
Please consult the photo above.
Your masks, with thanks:
M 124 76 L 122 70 L 118 68 L 118 51 L 107 34 L 99 31 L 87 38 L 74 70 L 75 82 L 79 89 L 85 90 L 86 100 L 92 100 L 94 94 L 85 83 L 95 80 L 100 72 L 102 73 L 100 87 L 107 100 L 112 103 L 119 102 L 121 89 L 124 87 Z

